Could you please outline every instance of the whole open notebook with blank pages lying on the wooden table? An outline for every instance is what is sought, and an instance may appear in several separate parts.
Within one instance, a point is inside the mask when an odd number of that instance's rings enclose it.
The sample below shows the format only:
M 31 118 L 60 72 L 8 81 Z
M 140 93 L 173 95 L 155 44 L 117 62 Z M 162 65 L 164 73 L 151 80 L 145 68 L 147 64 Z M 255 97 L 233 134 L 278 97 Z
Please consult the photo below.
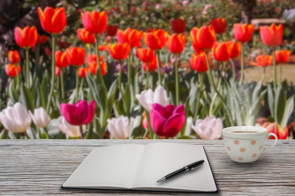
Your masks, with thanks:
M 156 183 L 199 160 L 198 169 Z M 124 144 L 94 148 L 63 188 L 217 192 L 203 146 L 176 143 Z

